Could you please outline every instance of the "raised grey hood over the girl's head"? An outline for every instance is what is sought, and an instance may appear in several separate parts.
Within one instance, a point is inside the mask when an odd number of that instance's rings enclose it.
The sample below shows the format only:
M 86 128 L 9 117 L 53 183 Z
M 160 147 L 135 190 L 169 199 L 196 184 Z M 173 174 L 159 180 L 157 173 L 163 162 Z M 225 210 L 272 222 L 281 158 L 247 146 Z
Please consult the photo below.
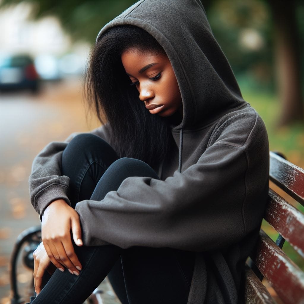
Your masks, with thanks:
M 200 0 L 141 0 L 106 24 L 96 41 L 119 25 L 145 29 L 167 53 L 183 103 L 175 130 L 205 126 L 246 103 Z

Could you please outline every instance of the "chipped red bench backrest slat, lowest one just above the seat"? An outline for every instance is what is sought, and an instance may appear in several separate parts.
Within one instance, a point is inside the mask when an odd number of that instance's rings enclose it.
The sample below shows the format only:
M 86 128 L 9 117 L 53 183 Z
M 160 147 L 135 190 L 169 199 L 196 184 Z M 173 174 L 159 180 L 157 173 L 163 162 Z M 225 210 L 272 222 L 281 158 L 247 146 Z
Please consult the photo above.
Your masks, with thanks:
M 263 230 L 250 257 L 284 303 L 304 303 L 304 272 Z

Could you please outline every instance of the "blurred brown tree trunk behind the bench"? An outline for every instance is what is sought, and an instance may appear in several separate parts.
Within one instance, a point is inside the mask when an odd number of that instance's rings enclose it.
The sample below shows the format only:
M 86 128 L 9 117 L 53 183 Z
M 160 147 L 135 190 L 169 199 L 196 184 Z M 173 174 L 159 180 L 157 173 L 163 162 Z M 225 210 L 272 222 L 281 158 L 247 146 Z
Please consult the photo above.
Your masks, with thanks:
M 299 32 L 295 1 L 269 0 L 275 32 L 275 65 L 281 102 L 278 125 L 303 120 Z

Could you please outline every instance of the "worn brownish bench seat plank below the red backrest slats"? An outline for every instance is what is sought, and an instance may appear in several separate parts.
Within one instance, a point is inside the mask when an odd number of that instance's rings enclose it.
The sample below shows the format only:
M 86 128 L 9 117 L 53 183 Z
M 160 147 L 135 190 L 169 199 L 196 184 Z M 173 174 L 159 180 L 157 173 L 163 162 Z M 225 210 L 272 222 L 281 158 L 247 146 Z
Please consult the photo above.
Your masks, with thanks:
M 247 265 L 245 266 L 244 296 L 244 304 L 275 304 L 266 287 Z

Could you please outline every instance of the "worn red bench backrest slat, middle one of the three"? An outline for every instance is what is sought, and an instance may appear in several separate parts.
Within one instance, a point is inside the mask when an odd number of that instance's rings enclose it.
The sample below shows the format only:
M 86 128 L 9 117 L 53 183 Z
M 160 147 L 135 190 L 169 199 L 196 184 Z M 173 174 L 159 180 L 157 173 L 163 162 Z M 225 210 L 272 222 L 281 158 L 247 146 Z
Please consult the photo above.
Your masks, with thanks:
M 269 189 L 264 219 L 304 257 L 304 214 Z

